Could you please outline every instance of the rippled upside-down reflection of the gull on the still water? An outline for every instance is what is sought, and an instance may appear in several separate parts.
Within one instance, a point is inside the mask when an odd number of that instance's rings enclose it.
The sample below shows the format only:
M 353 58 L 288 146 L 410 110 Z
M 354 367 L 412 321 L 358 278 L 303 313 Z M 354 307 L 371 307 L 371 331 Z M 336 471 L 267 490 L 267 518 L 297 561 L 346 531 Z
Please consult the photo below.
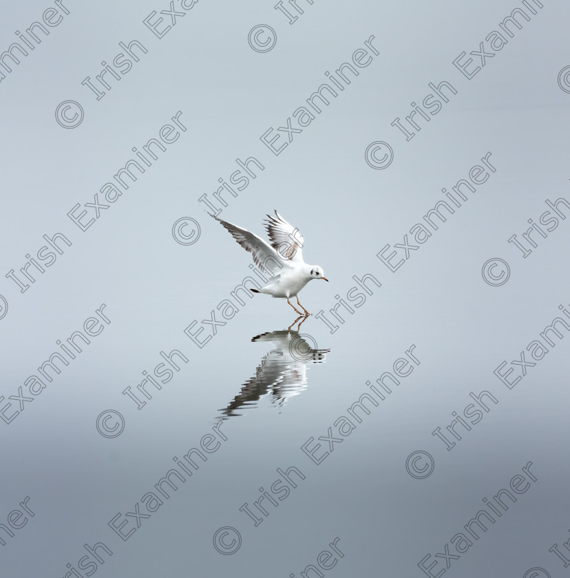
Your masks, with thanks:
M 271 342 L 273 349 L 263 356 L 255 376 L 246 381 L 240 393 L 221 410 L 227 417 L 240 415 L 234 414 L 240 407 L 255 407 L 266 394 L 271 394 L 273 403 L 282 407 L 289 398 L 306 389 L 306 365 L 324 363 L 330 351 L 313 349 L 297 331 L 262 333 L 251 341 Z

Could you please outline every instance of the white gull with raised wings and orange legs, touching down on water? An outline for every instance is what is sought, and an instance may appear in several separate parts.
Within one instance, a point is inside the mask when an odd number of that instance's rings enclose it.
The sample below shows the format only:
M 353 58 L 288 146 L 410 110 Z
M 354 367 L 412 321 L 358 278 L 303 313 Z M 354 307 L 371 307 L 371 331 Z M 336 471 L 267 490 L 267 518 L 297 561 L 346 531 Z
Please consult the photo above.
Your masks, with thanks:
M 220 221 L 233 238 L 253 255 L 253 261 L 264 275 L 267 272 L 271 274 L 266 286 L 260 289 L 251 289 L 254 293 L 266 293 L 273 297 L 286 298 L 287 303 L 300 315 L 301 312 L 289 301 L 289 297 L 297 297 L 299 291 L 311 279 L 328 281 L 319 266 L 307 265 L 303 261 L 304 237 L 297 228 L 288 224 L 277 211 L 275 211 L 275 217 L 267 215 L 269 219 L 265 221 L 271 245 L 244 228 L 222 221 L 215 215 L 211 216 Z M 299 297 L 297 297 L 297 304 L 306 315 L 309 314 L 299 303 Z

